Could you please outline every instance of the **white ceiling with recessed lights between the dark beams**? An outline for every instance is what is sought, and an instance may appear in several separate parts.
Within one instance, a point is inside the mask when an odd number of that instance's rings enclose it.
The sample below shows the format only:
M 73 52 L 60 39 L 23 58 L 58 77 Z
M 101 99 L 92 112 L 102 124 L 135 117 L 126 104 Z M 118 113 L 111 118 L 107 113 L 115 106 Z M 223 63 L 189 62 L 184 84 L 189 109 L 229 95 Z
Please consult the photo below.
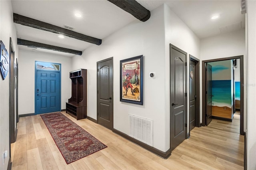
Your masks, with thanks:
M 245 15 L 240 12 L 240 0 L 137 0 L 142 6 L 152 11 L 162 4 L 170 9 L 198 36 L 206 38 L 222 32 L 230 32 L 245 27 Z M 55 26 L 64 25 L 73 31 L 104 39 L 130 22 L 137 20 L 131 14 L 118 8 L 107 0 L 12 0 L 13 12 L 22 16 L 47 22 Z M 76 18 L 79 12 L 82 18 Z M 218 14 L 216 20 L 210 18 Z M 24 40 L 46 43 L 64 48 L 84 51 L 91 43 L 65 37 L 58 34 L 15 24 L 17 37 Z M 220 29 L 221 28 L 221 29 Z M 102 40 L 102 44 L 104 40 Z M 32 48 L 18 45 L 20 49 L 32 51 Z M 45 49 L 36 49 L 59 55 L 74 54 Z M 35 49 L 34 49 L 35 51 Z

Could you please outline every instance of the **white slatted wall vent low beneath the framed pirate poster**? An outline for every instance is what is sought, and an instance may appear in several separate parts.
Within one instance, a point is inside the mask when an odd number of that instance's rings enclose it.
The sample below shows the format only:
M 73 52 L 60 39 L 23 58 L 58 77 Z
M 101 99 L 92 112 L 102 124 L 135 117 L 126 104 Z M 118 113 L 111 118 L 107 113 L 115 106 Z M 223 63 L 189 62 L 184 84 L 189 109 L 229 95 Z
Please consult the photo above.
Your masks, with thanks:
M 153 120 L 129 114 L 130 136 L 153 146 Z

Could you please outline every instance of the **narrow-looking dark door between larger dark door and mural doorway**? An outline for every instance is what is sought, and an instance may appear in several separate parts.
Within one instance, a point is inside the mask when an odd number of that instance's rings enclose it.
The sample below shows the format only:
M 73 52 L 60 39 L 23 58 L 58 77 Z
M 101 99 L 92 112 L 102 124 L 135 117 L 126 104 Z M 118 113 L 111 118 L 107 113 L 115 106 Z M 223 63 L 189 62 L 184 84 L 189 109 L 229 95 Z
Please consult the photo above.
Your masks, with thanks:
M 189 130 L 196 127 L 196 61 L 190 60 L 189 65 Z

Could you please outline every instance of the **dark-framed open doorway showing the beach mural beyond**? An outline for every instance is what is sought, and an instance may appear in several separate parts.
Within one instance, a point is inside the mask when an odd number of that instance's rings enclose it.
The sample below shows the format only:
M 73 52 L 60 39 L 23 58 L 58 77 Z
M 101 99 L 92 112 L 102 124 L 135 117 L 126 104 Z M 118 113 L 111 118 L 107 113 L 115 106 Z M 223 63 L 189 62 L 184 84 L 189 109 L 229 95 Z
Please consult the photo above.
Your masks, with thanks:
M 240 68 L 237 63 L 240 61 Z M 235 64 L 235 62 L 237 62 Z M 207 67 L 212 66 L 212 79 Z M 230 67 L 228 67 L 228 65 Z M 209 67 L 208 67 L 209 68 Z M 239 76 L 235 72 L 239 71 Z M 226 73 L 224 73 L 226 72 Z M 243 55 L 202 61 L 202 126 L 211 118 L 233 121 L 240 117 L 240 134 L 244 135 L 244 60 Z M 218 78 L 216 78 L 218 77 Z M 226 78 L 229 77 L 229 78 Z M 238 77 L 238 78 L 237 78 Z M 240 81 L 240 82 L 239 82 Z M 212 103 L 209 105 L 209 83 L 212 84 Z M 240 95 L 240 96 L 239 96 Z M 240 100 L 239 100 L 240 99 Z M 240 105 L 239 105 L 240 104 Z M 240 110 L 239 113 L 235 111 Z

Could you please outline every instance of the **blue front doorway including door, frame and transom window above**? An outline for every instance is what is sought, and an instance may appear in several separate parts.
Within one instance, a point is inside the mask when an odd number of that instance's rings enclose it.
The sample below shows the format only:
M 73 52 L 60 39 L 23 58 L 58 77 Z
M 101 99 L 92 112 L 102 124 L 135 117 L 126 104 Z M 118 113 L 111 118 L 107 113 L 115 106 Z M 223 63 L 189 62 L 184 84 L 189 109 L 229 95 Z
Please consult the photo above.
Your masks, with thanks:
M 61 111 L 61 64 L 35 61 L 35 114 Z

